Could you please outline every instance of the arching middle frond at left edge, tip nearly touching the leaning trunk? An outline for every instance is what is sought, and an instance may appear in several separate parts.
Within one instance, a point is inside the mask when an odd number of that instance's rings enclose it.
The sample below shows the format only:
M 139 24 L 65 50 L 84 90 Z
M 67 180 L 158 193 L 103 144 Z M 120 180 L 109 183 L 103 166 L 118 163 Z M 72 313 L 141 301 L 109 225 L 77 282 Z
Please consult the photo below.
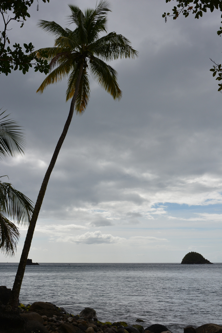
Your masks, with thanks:
M 34 208 L 32 201 L 10 183 L 0 181 L 0 212 L 18 224 L 28 225 Z

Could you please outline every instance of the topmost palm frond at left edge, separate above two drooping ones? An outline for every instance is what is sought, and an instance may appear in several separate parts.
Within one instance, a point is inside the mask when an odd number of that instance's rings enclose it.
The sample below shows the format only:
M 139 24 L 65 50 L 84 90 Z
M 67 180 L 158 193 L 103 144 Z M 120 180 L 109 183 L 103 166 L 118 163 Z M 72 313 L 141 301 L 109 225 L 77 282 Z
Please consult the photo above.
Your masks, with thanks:
M 1 110 L 1 109 L 0 109 Z M 5 113 L 3 111 L 0 117 Z M 0 159 L 6 156 L 21 156 L 24 154 L 25 139 L 21 126 L 6 115 L 0 119 Z

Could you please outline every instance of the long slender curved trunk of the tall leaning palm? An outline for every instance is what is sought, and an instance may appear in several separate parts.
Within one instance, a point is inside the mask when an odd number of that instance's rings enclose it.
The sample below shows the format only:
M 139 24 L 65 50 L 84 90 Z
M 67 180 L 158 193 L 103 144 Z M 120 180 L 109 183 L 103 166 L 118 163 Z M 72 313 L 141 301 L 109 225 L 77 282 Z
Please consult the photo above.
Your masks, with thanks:
M 49 167 L 46 171 L 46 174 L 45 174 L 45 177 L 43 179 L 42 186 L 40 188 L 39 195 L 38 195 L 38 198 L 37 198 L 37 201 L 36 201 L 36 204 L 35 204 L 34 212 L 33 212 L 30 224 L 29 224 L 29 228 L 28 228 L 28 231 L 27 231 L 24 247 L 23 247 L 23 250 L 22 250 L 22 255 L 21 255 L 21 258 L 20 258 L 18 270 L 17 270 L 17 273 L 16 273 L 14 285 L 13 285 L 13 288 L 12 288 L 12 293 L 11 293 L 11 296 L 10 296 L 10 299 L 9 299 L 9 302 L 8 302 L 8 305 L 11 306 L 11 308 L 9 307 L 9 310 L 10 309 L 15 310 L 18 307 L 19 293 L 20 293 L 20 289 L 21 289 L 21 285 L 22 285 L 22 279 L 23 279 L 23 276 L 24 276 L 24 273 L 25 273 L 26 261 L 27 261 L 29 250 L 30 250 L 30 247 L 31 247 L 31 242 L 32 242 L 32 237 L 33 237 L 35 226 L 36 226 L 36 221 L 37 221 L 39 211 L 40 211 L 40 208 L 41 208 L 41 205 L 42 205 L 42 202 L 43 202 L 43 198 L 44 198 L 44 195 L 45 195 L 45 192 L 46 192 L 46 188 L 47 188 L 47 185 L 48 185 L 48 182 L 49 182 L 50 175 L 51 175 L 52 170 L 55 166 L 57 157 L 59 155 L 60 149 L 62 147 L 62 144 L 63 144 L 64 140 L 65 140 L 66 134 L 68 132 L 68 129 L 69 129 L 72 117 L 73 117 L 74 106 L 75 106 L 75 102 L 76 102 L 76 98 L 77 98 L 77 94 L 78 94 L 79 86 L 80 86 L 80 80 L 81 80 L 81 77 L 82 77 L 82 74 L 83 74 L 83 66 L 84 66 L 83 63 L 81 63 L 80 64 L 79 76 L 78 76 L 78 79 L 77 79 L 77 82 L 76 82 L 75 93 L 74 93 L 74 96 L 73 96 L 72 101 L 71 101 L 70 112 L 69 112 L 67 121 L 65 123 L 62 135 L 59 138 L 59 141 L 56 145 L 56 148 L 55 148 L 53 157 L 51 159 L 51 162 L 49 164 Z

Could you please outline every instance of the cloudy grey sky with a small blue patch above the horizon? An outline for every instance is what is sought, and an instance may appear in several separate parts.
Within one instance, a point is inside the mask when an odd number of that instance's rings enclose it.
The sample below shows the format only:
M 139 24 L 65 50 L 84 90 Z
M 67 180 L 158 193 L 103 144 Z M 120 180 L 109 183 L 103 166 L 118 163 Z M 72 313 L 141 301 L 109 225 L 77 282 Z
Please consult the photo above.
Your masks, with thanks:
M 68 4 L 37 1 L 13 42 L 53 46 L 40 19 L 67 25 Z M 122 99 L 92 79 L 82 116 L 74 115 L 52 172 L 29 258 L 33 262 L 181 262 L 190 251 L 222 262 L 222 95 L 212 77 L 221 62 L 221 13 L 177 20 L 165 0 L 111 0 L 108 33 L 131 41 L 137 59 L 113 61 Z M 75 29 L 75 25 L 70 28 Z M 0 107 L 25 131 L 25 155 L 1 162 L 2 175 L 36 201 L 68 116 L 67 80 L 36 90 L 45 74 L 1 75 Z M 1 180 L 8 181 L 7 177 Z M 15 257 L 19 262 L 27 229 Z

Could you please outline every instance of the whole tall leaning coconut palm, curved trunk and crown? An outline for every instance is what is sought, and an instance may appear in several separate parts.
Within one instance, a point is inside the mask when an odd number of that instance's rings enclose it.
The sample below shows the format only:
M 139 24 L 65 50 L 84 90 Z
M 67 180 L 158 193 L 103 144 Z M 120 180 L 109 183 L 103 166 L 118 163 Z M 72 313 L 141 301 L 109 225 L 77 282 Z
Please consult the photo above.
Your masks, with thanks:
M 75 30 L 64 29 L 54 21 L 41 20 L 39 22 L 39 26 L 54 35 L 56 39 L 54 47 L 36 51 L 36 55 L 40 59 L 43 58 L 42 51 L 47 52 L 51 68 L 50 74 L 43 81 L 37 92 L 42 93 L 48 85 L 69 77 L 66 100 L 70 98 L 72 100 L 67 121 L 43 179 L 35 204 L 34 214 L 30 221 L 9 301 L 12 309 L 16 309 L 18 304 L 19 292 L 36 221 L 51 172 L 69 129 L 74 108 L 77 114 L 82 114 L 89 101 L 90 85 L 88 70 L 93 79 L 111 94 L 114 100 L 120 99 L 122 92 L 117 84 L 117 72 L 104 61 L 115 60 L 117 58 L 134 58 L 137 56 L 137 52 L 132 49 L 130 42 L 122 35 L 111 32 L 100 37 L 102 33 L 107 33 L 107 14 L 111 11 L 109 2 L 100 1 L 95 9 L 86 9 L 84 13 L 77 6 L 69 5 L 69 7 L 71 9 L 71 15 L 69 16 L 70 24 L 74 23 L 76 25 Z

